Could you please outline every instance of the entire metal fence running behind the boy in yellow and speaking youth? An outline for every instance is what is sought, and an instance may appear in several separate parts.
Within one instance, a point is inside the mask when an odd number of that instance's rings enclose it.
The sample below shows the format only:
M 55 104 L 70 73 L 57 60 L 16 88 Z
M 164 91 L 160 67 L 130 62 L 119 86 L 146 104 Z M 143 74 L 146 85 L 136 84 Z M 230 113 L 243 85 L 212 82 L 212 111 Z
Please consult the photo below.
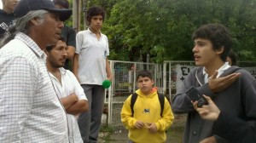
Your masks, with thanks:
M 255 61 L 240 61 L 238 66 L 249 69 L 249 72 L 256 77 Z M 143 62 L 129 62 L 110 60 L 110 67 L 113 74 L 112 86 L 108 89 L 105 103 L 108 104 L 108 124 L 114 126 L 122 125 L 120 112 L 127 97 L 137 90 L 137 72 L 148 70 L 154 77 L 154 86 L 159 92 L 165 94 L 172 100 L 177 89 L 177 66 L 195 66 L 195 61 L 164 61 L 163 65 Z M 246 67 L 252 67 L 246 68 Z M 184 69 L 184 74 L 189 73 L 189 68 Z

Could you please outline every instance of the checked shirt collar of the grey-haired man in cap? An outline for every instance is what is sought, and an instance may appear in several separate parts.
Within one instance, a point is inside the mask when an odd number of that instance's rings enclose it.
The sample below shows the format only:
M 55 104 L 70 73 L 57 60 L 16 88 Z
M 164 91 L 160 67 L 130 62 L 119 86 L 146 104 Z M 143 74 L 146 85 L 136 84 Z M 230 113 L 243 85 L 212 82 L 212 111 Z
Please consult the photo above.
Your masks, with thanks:
M 32 49 L 32 51 L 38 56 L 41 57 L 43 59 L 46 59 L 46 54 L 44 53 L 44 51 L 42 49 L 40 49 L 38 47 L 38 44 L 35 43 L 31 37 L 28 37 L 26 34 L 19 32 L 17 33 L 17 35 L 15 36 L 15 39 L 19 39 L 20 41 L 26 43 L 26 45 Z

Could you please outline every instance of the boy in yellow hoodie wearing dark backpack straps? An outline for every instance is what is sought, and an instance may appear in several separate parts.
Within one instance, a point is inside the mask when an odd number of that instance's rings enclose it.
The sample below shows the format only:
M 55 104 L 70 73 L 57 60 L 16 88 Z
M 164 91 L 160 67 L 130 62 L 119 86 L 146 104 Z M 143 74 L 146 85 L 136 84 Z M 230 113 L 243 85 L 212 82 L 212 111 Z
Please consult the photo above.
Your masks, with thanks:
M 173 123 L 174 116 L 169 101 L 164 98 L 164 108 L 161 105 L 157 89 L 153 88 L 152 74 L 141 71 L 137 74 L 137 100 L 131 110 L 130 95 L 123 105 L 121 121 L 129 130 L 130 143 L 164 143 L 166 129 Z

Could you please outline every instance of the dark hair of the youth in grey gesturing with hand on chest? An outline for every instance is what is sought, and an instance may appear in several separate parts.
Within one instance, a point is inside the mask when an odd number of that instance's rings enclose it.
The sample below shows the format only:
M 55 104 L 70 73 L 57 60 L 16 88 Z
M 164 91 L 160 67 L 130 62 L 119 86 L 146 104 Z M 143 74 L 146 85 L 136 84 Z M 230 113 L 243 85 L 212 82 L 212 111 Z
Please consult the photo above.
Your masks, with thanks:
M 230 31 L 227 27 L 221 24 L 207 24 L 195 30 L 192 39 L 205 38 L 212 42 L 213 50 L 224 47 L 223 53 L 220 55 L 221 60 L 226 61 L 230 49 L 232 47 L 232 40 Z

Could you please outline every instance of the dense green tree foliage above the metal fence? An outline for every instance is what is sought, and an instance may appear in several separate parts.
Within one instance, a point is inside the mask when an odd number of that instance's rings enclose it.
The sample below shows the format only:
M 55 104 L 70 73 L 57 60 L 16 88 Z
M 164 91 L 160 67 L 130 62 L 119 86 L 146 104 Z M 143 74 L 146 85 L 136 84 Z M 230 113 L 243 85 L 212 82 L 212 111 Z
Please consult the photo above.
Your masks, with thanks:
M 107 11 L 110 60 L 193 60 L 191 35 L 208 23 L 230 29 L 240 60 L 256 60 L 256 0 L 88 0 Z

